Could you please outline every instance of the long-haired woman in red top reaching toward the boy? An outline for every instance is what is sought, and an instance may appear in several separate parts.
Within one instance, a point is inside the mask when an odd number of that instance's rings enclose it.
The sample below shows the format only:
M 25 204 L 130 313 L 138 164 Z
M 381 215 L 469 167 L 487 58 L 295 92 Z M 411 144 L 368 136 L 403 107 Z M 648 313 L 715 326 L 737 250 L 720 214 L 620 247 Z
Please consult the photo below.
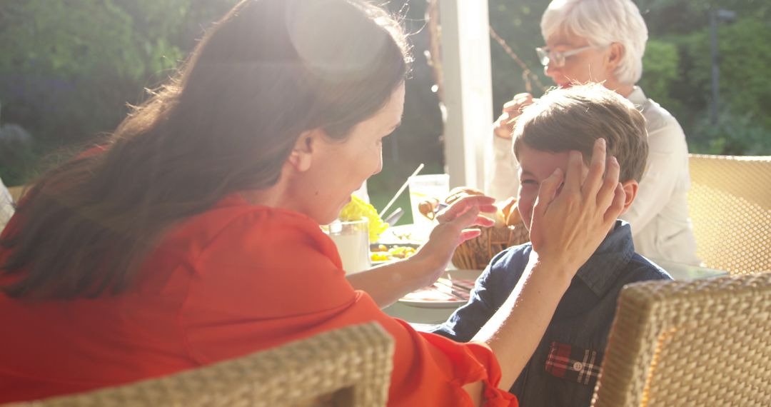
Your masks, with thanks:
M 537 256 L 474 343 L 416 332 L 380 308 L 436 281 L 493 199 L 459 201 L 415 256 L 349 280 L 319 227 L 381 170 L 409 59 L 367 2 L 239 3 L 103 149 L 39 179 L 0 236 L 0 403 L 377 321 L 396 342 L 390 405 L 517 405 L 507 389 L 621 211 L 618 162 L 597 143 L 588 169 L 577 154 L 544 181 Z

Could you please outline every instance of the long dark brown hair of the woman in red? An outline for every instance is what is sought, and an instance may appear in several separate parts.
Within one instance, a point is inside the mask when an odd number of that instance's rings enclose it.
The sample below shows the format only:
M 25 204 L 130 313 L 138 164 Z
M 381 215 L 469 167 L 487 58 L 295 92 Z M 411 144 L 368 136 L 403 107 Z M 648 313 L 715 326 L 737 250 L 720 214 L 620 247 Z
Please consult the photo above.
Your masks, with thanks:
M 409 71 L 404 35 L 358 0 L 244 0 L 177 79 L 127 117 L 106 151 L 37 182 L 0 241 L 5 294 L 125 290 L 171 225 L 228 194 L 269 187 L 300 133 L 344 140 Z

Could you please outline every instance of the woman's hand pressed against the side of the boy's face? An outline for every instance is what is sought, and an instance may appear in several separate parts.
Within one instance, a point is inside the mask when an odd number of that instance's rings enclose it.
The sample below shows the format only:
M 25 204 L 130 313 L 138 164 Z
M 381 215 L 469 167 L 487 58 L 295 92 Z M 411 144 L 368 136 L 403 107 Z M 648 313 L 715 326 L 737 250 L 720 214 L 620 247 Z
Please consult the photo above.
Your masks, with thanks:
M 618 161 L 606 160 L 605 140 L 598 139 L 588 168 L 581 153 L 571 152 L 567 173 L 557 169 L 540 184 L 530 240 L 541 262 L 574 274 L 597 250 L 624 207 L 618 172 Z

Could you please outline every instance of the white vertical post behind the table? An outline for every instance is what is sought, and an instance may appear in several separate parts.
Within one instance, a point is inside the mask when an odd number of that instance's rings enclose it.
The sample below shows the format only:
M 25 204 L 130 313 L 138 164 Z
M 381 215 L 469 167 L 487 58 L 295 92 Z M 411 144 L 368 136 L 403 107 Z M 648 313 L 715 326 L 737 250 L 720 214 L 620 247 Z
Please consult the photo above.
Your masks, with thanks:
M 487 0 L 439 0 L 444 146 L 452 187 L 484 187 L 483 140 L 493 120 Z

